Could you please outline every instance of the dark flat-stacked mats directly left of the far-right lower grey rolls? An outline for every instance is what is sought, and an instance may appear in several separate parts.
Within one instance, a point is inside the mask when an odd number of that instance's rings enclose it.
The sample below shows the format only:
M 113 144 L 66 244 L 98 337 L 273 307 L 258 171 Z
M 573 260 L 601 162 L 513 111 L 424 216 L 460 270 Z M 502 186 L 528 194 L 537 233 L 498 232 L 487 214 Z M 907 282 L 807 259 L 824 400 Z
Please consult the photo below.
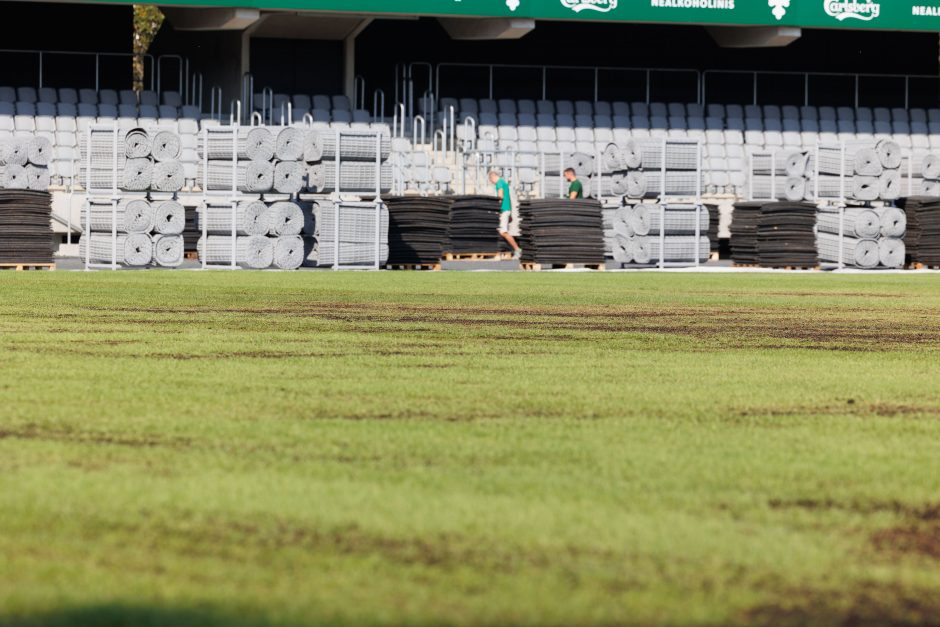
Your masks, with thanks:
M 770 202 L 757 223 L 758 263 L 765 268 L 819 265 L 816 254 L 816 206 L 804 202 Z

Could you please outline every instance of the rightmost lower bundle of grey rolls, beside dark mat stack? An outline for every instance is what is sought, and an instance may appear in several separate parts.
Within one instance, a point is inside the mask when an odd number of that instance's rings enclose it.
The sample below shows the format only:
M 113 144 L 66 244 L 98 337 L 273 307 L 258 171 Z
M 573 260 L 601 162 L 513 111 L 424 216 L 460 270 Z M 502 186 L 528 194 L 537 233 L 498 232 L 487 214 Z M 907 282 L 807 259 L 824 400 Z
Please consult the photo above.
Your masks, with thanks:
M 840 242 L 840 220 L 842 239 Z M 820 209 L 816 220 L 820 261 L 855 268 L 900 268 L 904 265 L 907 217 L 902 209 L 846 207 Z

